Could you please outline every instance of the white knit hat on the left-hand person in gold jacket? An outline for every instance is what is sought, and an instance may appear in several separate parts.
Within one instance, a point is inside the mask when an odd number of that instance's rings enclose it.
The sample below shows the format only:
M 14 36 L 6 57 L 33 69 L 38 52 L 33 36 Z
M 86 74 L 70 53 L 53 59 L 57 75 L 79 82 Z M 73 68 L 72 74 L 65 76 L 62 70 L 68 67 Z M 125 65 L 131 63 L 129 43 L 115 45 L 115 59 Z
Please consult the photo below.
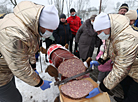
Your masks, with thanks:
M 48 5 L 41 11 L 40 26 L 43 28 L 55 30 L 59 25 L 58 10 L 54 5 Z

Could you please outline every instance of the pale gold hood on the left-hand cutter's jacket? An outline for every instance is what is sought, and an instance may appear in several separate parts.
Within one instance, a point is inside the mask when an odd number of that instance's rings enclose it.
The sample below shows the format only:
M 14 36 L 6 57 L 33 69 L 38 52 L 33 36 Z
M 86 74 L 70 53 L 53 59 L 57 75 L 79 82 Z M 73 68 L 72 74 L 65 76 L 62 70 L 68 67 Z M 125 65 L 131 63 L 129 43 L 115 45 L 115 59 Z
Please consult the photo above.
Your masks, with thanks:
M 39 16 L 43 7 L 31 1 L 22 1 L 14 8 L 14 14 L 26 27 L 38 34 Z

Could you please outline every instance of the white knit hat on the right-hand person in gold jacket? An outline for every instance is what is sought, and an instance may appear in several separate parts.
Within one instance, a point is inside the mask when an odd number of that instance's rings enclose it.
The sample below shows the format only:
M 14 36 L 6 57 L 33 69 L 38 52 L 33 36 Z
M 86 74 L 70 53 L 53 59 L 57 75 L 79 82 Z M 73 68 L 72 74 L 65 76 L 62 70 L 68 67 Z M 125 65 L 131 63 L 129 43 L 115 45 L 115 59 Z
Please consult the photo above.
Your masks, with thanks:
M 96 16 L 93 27 L 95 31 L 100 31 L 110 28 L 111 25 L 108 15 L 102 12 L 98 16 Z

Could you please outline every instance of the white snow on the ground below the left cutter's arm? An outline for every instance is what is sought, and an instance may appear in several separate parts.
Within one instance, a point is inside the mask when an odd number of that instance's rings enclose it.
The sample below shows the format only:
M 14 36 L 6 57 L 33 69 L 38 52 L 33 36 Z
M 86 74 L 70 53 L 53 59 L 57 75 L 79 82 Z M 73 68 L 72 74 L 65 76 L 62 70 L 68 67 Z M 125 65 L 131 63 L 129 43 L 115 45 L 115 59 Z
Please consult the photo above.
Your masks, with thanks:
M 43 80 L 55 81 L 53 77 L 51 77 L 48 73 L 45 73 L 45 69 L 49 63 L 45 62 L 45 55 L 42 53 L 40 54 L 43 72 L 41 72 L 40 57 L 36 63 L 36 69 L 39 72 L 40 77 Z M 23 97 L 23 102 L 54 102 L 55 98 L 59 95 L 59 89 L 57 86 L 52 85 L 51 88 L 43 91 L 40 87 L 30 86 L 18 78 L 15 80 L 17 88 Z

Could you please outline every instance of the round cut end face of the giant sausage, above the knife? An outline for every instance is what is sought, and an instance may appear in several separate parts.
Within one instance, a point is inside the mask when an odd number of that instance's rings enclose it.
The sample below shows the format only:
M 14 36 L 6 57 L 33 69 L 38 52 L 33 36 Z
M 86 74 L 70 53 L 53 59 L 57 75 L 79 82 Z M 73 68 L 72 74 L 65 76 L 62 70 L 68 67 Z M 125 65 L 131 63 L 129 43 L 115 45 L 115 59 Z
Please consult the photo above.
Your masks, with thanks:
M 80 59 L 68 59 L 58 67 L 58 72 L 64 77 L 71 77 L 85 71 L 86 67 Z

